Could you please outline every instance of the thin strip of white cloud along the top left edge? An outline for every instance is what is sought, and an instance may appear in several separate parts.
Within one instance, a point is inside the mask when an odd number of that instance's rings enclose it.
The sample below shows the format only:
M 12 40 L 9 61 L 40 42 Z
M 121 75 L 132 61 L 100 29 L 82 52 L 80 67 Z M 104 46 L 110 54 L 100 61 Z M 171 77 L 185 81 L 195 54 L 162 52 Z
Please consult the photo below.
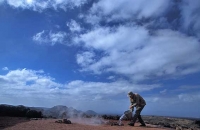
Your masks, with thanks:
M 74 7 L 80 7 L 87 2 L 87 0 L 4 0 L 0 3 L 6 2 L 14 8 L 31 9 L 34 11 L 43 11 L 47 8 L 67 10 Z

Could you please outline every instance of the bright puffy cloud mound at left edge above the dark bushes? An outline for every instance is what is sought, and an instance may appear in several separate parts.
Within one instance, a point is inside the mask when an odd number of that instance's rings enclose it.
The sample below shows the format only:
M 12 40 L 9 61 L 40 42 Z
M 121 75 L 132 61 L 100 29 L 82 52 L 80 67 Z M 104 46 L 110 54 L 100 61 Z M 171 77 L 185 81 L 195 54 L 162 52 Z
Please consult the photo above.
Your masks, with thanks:
M 6 75 L 0 75 L 2 86 L 1 95 L 14 97 L 48 97 L 44 94 L 53 94 L 55 88 L 60 87 L 54 79 L 44 75 L 42 70 L 17 69 L 11 70 Z

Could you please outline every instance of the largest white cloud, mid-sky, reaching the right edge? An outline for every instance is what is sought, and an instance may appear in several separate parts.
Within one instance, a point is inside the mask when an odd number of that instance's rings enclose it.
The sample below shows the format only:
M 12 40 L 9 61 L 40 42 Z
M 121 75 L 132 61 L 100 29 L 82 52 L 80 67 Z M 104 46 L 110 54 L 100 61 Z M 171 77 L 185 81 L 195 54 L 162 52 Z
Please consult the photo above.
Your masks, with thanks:
M 134 25 L 101 27 L 74 41 L 104 51 L 103 57 L 84 68 L 95 73 L 114 72 L 145 79 L 200 70 L 198 39 L 177 31 L 163 29 L 151 34 L 146 28 Z

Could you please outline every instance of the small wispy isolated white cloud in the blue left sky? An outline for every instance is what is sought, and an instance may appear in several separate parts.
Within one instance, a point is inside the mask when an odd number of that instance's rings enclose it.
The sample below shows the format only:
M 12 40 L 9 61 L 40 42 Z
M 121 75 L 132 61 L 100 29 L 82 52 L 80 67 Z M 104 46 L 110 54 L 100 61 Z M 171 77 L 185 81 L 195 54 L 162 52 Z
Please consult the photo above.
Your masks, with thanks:
M 65 32 L 59 31 L 53 33 L 52 31 L 45 31 L 39 32 L 33 36 L 33 40 L 42 44 L 42 43 L 49 43 L 54 45 L 56 43 L 65 44 L 67 38 L 67 34 Z

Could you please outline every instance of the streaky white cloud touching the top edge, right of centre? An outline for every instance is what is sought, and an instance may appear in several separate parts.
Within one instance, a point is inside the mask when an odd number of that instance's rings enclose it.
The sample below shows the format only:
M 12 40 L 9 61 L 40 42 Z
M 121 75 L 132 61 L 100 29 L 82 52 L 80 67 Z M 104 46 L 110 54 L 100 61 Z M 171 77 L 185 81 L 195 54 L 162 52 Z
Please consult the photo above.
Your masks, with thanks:
M 162 15 L 170 4 L 171 0 L 115 0 L 114 4 L 110 0 L 100 0 L 93 4 L 91 15 L 86 16 L 86 19 L 92 22 L 96 16 L 107 21 L 157 17 Z

